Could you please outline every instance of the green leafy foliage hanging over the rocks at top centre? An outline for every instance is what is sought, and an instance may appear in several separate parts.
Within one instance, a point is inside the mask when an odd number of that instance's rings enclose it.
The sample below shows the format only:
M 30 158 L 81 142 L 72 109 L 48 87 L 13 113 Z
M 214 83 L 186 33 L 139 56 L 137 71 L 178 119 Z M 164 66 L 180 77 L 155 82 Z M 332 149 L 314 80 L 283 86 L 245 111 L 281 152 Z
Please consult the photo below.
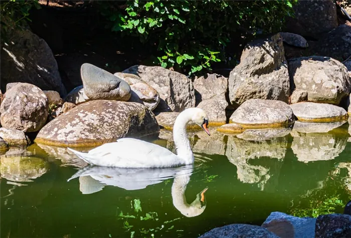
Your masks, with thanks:
M 98 0 L 112 31 L 156 46 L 155 63 L 191 73 L 226 59 L 224 47 L 239 30 L 279 30 L 297 0 Z

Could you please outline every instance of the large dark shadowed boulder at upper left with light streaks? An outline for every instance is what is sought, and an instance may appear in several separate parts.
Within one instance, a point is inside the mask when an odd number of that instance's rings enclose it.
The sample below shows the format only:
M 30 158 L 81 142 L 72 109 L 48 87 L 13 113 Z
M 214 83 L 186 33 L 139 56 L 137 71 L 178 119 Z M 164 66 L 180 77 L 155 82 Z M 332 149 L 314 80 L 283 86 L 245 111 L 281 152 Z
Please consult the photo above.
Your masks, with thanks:
M 46 42 L 32 32 L 11 31 L 0 43 L 0 89 L 13 82 L 30 83 L 65 96 L 54 55 Z

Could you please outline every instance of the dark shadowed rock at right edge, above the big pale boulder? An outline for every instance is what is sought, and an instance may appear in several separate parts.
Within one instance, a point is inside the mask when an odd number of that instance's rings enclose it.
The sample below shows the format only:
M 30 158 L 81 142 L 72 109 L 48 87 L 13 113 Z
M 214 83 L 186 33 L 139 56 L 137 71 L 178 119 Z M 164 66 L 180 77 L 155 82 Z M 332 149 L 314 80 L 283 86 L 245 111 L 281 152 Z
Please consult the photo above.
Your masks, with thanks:
M 313 46 L 316 55 L 332 57 L 344 61 L 351 56 L 351 24 L 345 23 L 323 35 Z

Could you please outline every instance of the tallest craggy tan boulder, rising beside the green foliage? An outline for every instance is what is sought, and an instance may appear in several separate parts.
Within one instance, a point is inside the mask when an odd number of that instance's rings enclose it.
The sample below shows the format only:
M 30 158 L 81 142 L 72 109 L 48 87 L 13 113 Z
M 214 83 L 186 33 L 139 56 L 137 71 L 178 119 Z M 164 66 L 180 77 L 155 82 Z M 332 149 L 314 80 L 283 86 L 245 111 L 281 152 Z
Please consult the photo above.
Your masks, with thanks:
M 249 43 L 228 82 L 229 99 L 234 107 L 253 98 L 287 103 L 290 83 L 280 35 Z

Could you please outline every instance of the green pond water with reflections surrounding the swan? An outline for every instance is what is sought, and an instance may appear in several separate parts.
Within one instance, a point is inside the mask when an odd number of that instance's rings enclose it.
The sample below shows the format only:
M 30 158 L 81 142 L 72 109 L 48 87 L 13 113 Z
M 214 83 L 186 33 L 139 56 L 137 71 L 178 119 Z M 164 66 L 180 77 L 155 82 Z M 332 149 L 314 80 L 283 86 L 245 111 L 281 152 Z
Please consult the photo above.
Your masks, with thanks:
M 341 124 L 192 133 L 194 166 L 163 170 L 85 167 L 66 148 L 13 148 L 1 155 L 0 237 L 197 237 L 261 225 L 272 211 L 342 212 L 351 136 Z M 153 142 L 174 150 L 170 132 Z

